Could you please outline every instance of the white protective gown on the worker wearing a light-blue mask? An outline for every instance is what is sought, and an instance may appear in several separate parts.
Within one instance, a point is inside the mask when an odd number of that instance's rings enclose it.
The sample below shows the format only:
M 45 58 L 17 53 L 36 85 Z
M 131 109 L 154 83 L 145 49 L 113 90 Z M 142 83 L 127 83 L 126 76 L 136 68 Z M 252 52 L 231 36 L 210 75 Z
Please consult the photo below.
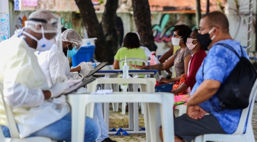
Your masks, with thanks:
M 36 51 L 35 55 L 37 55 L 39 66 L 47 76 L 49 86 L 69 79 L 82 79 L 78 72 L 70 72 L 69 60 L 63 52 L 57 50 L 56 44 L 49 51 Z

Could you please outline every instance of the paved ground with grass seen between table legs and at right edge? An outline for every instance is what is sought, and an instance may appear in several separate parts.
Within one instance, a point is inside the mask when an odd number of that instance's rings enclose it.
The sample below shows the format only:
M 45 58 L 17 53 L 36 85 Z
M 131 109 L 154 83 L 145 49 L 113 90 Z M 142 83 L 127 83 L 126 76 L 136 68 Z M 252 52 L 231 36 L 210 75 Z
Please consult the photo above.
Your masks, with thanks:
M 111 106 L 111 105 L 110 105 Z M 139 115 L 139 126 L 144 127 L 144 117 L 143 115 Z M 254 131 L 255 141 L 257 142 L 257 103 L 254 104 L 254 111 L 252 117 L 252 126 Z M 110 109 L 110 128 L 126 128 L 128 127 L 128 113 L 121 114 L 121 110 L 119 112 L 113 112 L 112 108 Z M 118 142 L 146 142 L 145 134 L 138 135 L 120 135 L 114 136 L 110 135 L 111 139 L 116 140 Z

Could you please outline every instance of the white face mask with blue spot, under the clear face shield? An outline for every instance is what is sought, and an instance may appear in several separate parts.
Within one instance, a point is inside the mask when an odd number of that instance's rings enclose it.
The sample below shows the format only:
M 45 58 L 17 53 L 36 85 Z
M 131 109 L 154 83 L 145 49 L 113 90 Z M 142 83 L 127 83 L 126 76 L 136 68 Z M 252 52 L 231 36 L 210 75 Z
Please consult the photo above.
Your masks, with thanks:
M 41 26 L 41 30 L 42 30 L 42 38 L 39 40 L 36 37 L 32 36 L 31 34 L 25 32 L 25 31 L 23 31 L 22 33 L 29 36 L 30 38 L 34 39 L 35 41 L 37 41 L 37 48 L 36 48 L 37 51 L 47 51 L 55 43 L 55 38 L 46 39 L 43 26 Z

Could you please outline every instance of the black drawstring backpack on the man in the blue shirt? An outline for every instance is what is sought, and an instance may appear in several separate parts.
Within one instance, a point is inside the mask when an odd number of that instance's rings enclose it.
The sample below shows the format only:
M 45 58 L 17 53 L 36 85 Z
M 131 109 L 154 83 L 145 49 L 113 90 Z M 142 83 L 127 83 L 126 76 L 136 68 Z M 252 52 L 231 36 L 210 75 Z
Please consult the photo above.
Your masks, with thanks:
M 217 111 L 223 110 L 224 108 L 244 109 L 249 105 L 249 97 L 254 82 L 257 78 L 257 72 L 252 63 L 243 56 L 242 47 L 240 47 L 240 57 L 236 50 L 230 45 L 223 43 L 218 43 L 217 45 L 222 45 L 223 47 L 228 48 L 234 52 L 240 60 L 234 69 L 230 72 L 224 84 L 220 86 L 218 92 L 216 93 L 218 99 L 220 100 L 219 106 L 221 109 L 214 104 L 212 98 L 210 99 L 210 103 Z M 202 75 L 204 76 L 203 69 Z

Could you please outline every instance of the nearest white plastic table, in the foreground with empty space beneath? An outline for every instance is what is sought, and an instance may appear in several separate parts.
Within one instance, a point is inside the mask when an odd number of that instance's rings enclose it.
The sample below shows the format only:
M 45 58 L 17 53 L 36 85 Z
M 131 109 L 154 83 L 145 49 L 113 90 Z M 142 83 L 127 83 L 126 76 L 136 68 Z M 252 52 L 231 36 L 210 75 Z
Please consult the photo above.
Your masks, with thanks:
M 85 109 L 88 104 L 124 101 L 144 103 L 145 124 L 148 124 L 146 125 L 146 140 L 148 142 L 160 141 L 158 133 L 160 125 L 162 125 L 164 141 L 174 141 L 172 111 L 174 95 L 171 93 L 114 92 L 107 95 L 70 94 L 68 97 L 72 108 L 72 142 L 82 142 L 84 139 L 85 127 L 87 127 L 85 126 Z M 147 108 L 145 109 L 145 107 Z M 160 116 L 160 118 L 156 116 Z

